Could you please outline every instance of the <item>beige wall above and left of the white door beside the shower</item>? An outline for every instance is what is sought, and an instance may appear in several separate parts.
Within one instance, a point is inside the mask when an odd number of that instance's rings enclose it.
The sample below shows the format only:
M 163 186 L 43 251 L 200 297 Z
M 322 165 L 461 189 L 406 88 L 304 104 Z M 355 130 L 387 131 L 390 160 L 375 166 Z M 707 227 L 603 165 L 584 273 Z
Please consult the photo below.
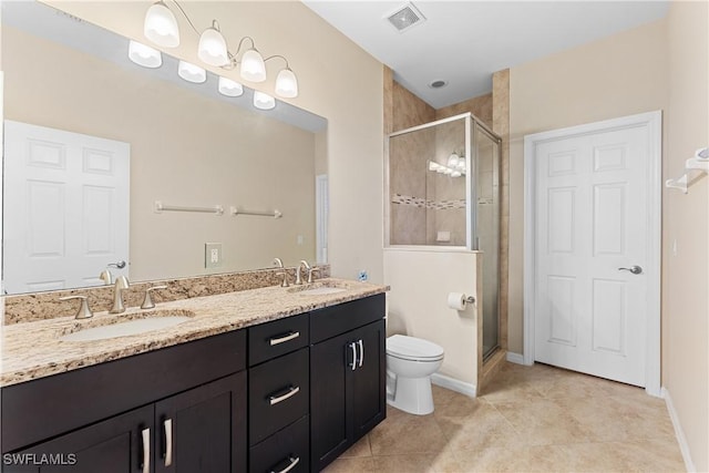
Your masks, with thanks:
M 664 20 L 510 70 L 510 268 L 524 258 L 524 135 L 667 104 Z M 522 353 L 523 271 L 508 284 L 508 350 Z

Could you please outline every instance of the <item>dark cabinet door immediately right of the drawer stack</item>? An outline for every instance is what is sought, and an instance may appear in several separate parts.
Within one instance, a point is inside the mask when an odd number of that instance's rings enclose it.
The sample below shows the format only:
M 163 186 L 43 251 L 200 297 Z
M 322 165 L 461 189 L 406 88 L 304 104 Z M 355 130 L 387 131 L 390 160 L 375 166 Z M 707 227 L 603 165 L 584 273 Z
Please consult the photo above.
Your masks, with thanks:
M 352 423 L 347 415 L 351 399 L 354 338 L 351 332 L 310 347 L 310 462 L 322 470 L 351 443 Z

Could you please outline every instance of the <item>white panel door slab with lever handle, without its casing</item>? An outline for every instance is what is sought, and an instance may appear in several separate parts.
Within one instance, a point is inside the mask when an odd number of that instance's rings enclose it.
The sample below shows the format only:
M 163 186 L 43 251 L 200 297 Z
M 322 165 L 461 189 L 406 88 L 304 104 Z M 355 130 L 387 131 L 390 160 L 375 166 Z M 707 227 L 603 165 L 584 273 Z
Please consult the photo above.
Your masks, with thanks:
M 535 360 L 645 385 L 647 127 L 536 144 Z

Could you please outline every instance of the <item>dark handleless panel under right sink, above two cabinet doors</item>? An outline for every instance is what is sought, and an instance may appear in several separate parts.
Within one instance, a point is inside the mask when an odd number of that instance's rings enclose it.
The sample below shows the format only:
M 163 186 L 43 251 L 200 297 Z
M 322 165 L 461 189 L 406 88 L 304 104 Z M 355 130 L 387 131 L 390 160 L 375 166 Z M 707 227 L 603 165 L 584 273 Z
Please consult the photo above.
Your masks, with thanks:
M 350 300 L 310 312 L 310 342 L 317 343 L 384 318 L 384 295 Z

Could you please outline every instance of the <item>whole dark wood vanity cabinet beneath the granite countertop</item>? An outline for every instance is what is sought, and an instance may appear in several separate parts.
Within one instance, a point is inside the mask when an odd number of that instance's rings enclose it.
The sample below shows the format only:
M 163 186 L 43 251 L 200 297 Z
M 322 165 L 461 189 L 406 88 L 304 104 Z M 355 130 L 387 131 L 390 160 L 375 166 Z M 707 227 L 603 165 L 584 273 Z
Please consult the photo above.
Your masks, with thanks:
M 383 316 L 377 295 L 3 388 L 0 470 L 320 471 L 386 418 Z

